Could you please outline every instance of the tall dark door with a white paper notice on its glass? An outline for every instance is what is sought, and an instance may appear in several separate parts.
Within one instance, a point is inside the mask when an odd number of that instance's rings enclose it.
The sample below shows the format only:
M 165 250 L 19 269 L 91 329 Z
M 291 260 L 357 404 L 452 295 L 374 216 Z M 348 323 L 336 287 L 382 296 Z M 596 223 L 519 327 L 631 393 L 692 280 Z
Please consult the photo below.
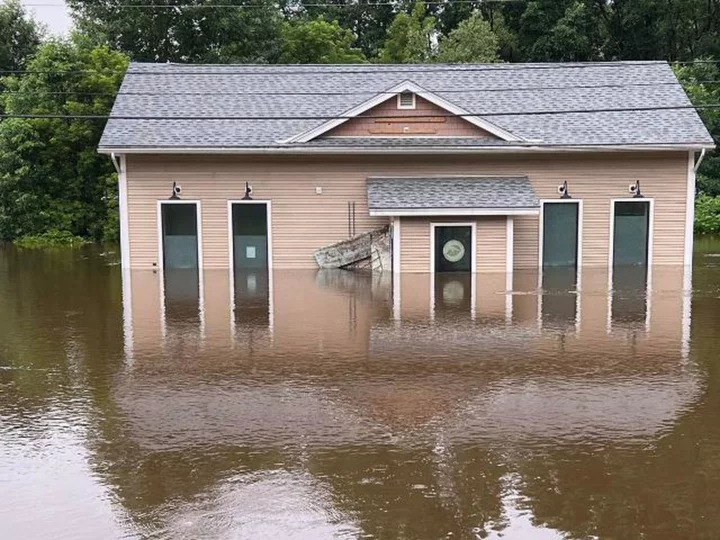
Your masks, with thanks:
M 267 270 L 267 204 L 233 203 L 232 236 L 235 271 Z

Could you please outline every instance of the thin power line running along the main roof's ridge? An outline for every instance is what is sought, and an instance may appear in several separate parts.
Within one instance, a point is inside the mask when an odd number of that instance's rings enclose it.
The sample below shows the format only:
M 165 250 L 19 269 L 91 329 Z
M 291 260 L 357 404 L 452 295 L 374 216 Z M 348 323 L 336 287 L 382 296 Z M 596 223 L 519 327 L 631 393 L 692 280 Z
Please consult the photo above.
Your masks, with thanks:
M 524 70 L 555 70 L 555 69 L 595 69 L 595 68 L 619 68 L 619 67 L 636 67 L 636 66 L 656 66 L 659 64 L 665 64 L 664 60 L 650 60 L 650 61 L 634 61 L 634 62 L 586 62 L 586 63 L 497 63 L 497 64 L 482 64 L 468 65 L 468 64 L 375 64 L 375 68 L 364 69 L 358 66 L 362 64 L 235 64 L 236 66 L 246 66 L 255 68 L 252 70 L 244 69 L 242 71 L 230 71 L 228 69 L 218 69 L 212 71 L 212 67 L 229 67 L 229 64 L 167 64 L 168 66 L 178 68 L 175 70 L 159 70 L 159 71 L 145 71 L 145 70 L 133 70 L 126 71 L 121 70 L 0 70 L 0 73 L 7 74 L 31 74 L 31 75 L 111 75 L 111 74 L 125 74 L 133 76 L 150 76 L 150 75 L 163 75 L 163 76 L 176 76 L 176 75 L 358 75 L 358 74 L 372 74 L 382 75 L 386 73 L 405 73 L 405 74 L 425 74 L 425 73 L 464 73 L 464 72 L 502 72 L 502 71 L 524 71 Z M 688 61 L 673 61 L 669 62 L 674 65 L 717 65 L 720 62 L 717 60 L 688 60 Z M 156 63 L 161 66 L 164 64 Z M 346 69 L 340 69 L 340 66 L 347 66 Z M 370 66 L 371 64 L 368 64 Z M 201 71 L 197 69 L 199 67 L 209 68 L 209 71 Z M 266 69 L 272 66 L 283 66 L 283 69 Z M 296 66 L 296 67 L 293 67 Z M 313 66 L 315 69 L 308 70 L 305 66 Z M 352 67 L 350 67 L 352 66 Z M 386 66 L 395 66 L 387 68 Z M 419 69 L 419 66 L 423 66 Z M 427 66 L 438 66 L 438 67 L 427 67 Z M 332 67 L 333 69 L 325 69 Z M 183 68 L 189 68 L 183 70 Z

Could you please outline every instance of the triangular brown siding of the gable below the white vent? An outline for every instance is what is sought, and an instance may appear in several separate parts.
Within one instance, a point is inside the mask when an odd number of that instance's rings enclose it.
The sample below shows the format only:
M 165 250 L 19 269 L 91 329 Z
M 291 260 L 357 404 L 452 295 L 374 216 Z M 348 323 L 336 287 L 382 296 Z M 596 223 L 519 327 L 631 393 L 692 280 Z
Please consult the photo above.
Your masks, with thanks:
M 415 96 L 415 109 L 398 109 L 397 97 L 393 96 L 330 130 L 324 137 L 488 137 L 497 139 L 467 120 L 447 117 L 450 114 L 428 100 Z M 374 118 L 383 116 L 384 118 Z M 437 118 L 437 116 L 445 116 Z M 368 118 L 370 117 L 370 118 Z M 408 118 L 410 117 L 410 118 Z

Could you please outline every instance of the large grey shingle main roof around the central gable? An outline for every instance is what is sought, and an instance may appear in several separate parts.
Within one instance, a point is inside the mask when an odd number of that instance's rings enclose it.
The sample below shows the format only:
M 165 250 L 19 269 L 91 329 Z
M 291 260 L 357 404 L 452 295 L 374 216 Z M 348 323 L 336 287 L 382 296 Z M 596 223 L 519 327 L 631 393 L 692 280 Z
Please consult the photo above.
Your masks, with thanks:
M 100 147 L 296 148 L 297 143 L 281 141 L 342 116 L 404 81 L 470 113 L 489 115 L 484 118 L 534 146 L 712 144 L 692 109 L 558 112 L 689 105 L 664 62 L 479 66 L 132 63 Z M 296 95 L 278 95 L 283 92 Z M 552 113 L 517 114 L 529 111 Z M 503 113 L 512 115 L 492 116 Z M 421 139 L 415 141 L 417 146 L 428 146 Z M 476 142 L 477 146 L 497 144 Z M 344 139 L 344 143 L 359 147 L 376 144 L 367 139 Z M 313 145 L 317 146 L 317 141 L 308 144 Z

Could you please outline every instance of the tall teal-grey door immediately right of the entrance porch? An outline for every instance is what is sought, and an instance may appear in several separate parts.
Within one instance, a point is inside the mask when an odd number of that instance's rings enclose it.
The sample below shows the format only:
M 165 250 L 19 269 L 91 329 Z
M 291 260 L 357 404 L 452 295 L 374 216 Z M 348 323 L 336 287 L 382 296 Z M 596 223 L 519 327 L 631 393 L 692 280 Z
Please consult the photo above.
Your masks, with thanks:
M 576 268 L 578 202 L 543 205 L 543 268 Z

